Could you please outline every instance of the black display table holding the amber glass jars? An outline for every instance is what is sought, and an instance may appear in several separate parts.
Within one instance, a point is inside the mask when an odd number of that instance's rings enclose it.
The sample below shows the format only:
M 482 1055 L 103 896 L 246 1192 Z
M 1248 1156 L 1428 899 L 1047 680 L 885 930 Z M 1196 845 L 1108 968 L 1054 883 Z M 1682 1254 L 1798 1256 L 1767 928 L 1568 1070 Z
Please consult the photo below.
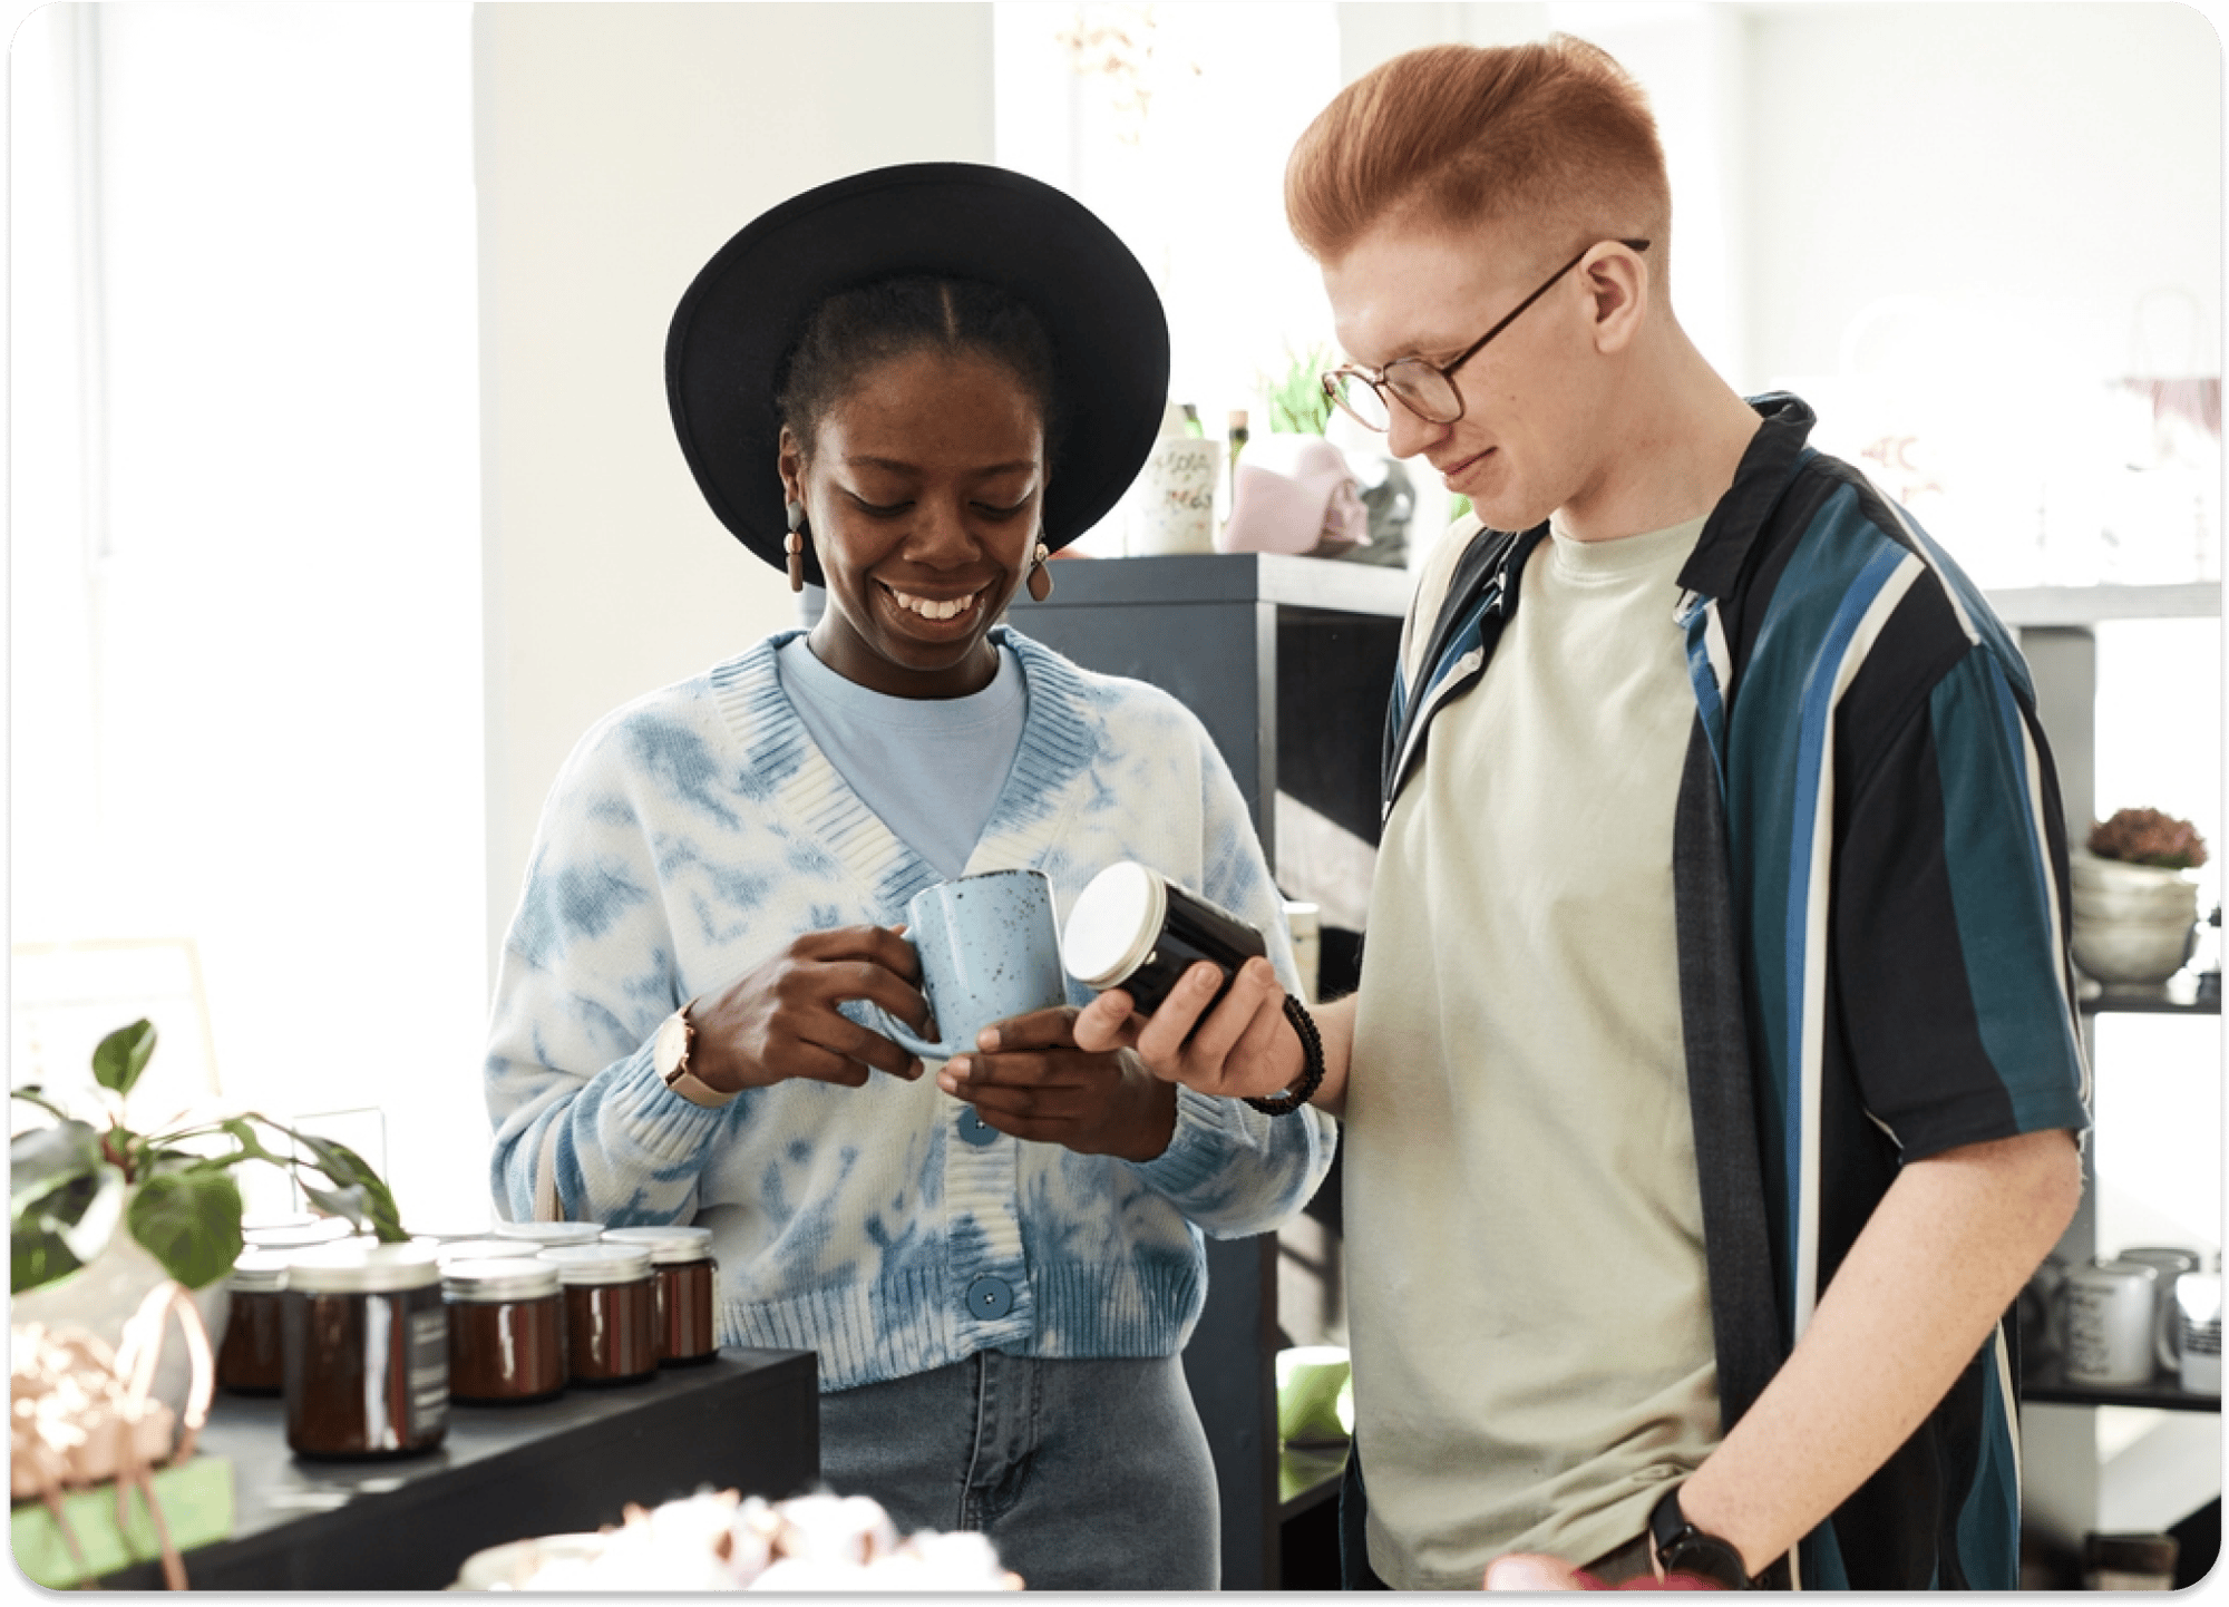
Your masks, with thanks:
M 201 1451 L 232 1462 L 230 1540 L 185 1554 L 194 1591 L 437 1591 L 473 1551 L 600 1529 L 698 1487 L 782 1500 L 820 1478 L 809 1351 L 722 1351 L 642 1384 L 568 1389 L 533 1406 L 450 1406 L 437 1451 L 310 1462 L 285 1404 L 218 1395 Z M 158 1565 L 103 1578 L 158 1591 Z

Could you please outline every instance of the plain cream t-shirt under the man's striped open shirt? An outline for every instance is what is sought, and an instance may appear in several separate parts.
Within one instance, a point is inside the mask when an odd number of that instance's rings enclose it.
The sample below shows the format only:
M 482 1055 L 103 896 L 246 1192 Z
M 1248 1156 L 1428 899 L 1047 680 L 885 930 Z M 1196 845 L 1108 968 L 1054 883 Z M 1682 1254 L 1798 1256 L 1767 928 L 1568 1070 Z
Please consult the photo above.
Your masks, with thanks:
M 1386 820 L 1344 1210 L 1369 1551 L 1398 1589 L 1589 1562 L 1719 1440 L 1672 923 L 1701 530 L 1551 533 Z

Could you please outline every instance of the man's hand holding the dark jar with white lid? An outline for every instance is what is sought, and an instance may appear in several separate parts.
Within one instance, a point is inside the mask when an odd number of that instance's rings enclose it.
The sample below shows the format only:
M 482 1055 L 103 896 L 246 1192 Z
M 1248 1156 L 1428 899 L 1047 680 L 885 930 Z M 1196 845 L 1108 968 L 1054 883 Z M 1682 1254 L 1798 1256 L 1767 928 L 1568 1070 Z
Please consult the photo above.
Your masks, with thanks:
M 1112 987 L 1077 1016 L 1074 1039 L 1090 1050 L 1135 1048 L 1155 1077 L 1201 1094 L 1271 1099 L 1302 1072 L 1300 1034 L 1284 1019 L 1284 985 L 1268 961 L 1246 961 L 1201 1021 L 1221 981 L 1221 970 L 1201 961 L 1177 978 L 1152 1016 L 1132 1014 L 1130 994 Z

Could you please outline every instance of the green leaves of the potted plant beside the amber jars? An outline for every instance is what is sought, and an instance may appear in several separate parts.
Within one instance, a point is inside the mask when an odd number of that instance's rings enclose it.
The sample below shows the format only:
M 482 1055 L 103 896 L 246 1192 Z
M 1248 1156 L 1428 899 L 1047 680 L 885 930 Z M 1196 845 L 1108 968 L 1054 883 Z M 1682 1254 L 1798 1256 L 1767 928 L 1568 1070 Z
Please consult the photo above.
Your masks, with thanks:
M 154 1056 L 156 1030 L 134 1021 L 94 1050 L 98 1112 L 65 1110 L 38 1085 L 11 1088 L 53 1126 L 9 1137 L 9 1295 L 56 1284 L 120 1239 L 185 1288 L 210 1288 L 241 1253 L 241 1190 L 232 1170 L 276 1166 L 303 1195 L 357 1230 L 399 1241 L 395 1197 L 345 1143 L 296 1132 L 256 1112 L 185 1117 L 152 1132 L 127 1121 L 127 1097 Z M 283 1139 L 292 1150 L 272 1148 Z M 317 1181 L 312 1181 L 317 1179 Z M 123 1233 L 118 1233 L 123 1228 Z

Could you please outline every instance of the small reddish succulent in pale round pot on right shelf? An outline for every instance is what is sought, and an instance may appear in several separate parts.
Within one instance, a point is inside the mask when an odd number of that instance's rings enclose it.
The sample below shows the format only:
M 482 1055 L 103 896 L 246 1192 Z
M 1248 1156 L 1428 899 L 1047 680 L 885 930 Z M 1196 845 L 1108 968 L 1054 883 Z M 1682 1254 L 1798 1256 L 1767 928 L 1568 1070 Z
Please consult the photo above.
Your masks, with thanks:
M 2158 987 L 2191 956 L 2207 840 L 2189 820 L 2120 809 L 2073 856 L 2075 965 L 2115 987 Z

